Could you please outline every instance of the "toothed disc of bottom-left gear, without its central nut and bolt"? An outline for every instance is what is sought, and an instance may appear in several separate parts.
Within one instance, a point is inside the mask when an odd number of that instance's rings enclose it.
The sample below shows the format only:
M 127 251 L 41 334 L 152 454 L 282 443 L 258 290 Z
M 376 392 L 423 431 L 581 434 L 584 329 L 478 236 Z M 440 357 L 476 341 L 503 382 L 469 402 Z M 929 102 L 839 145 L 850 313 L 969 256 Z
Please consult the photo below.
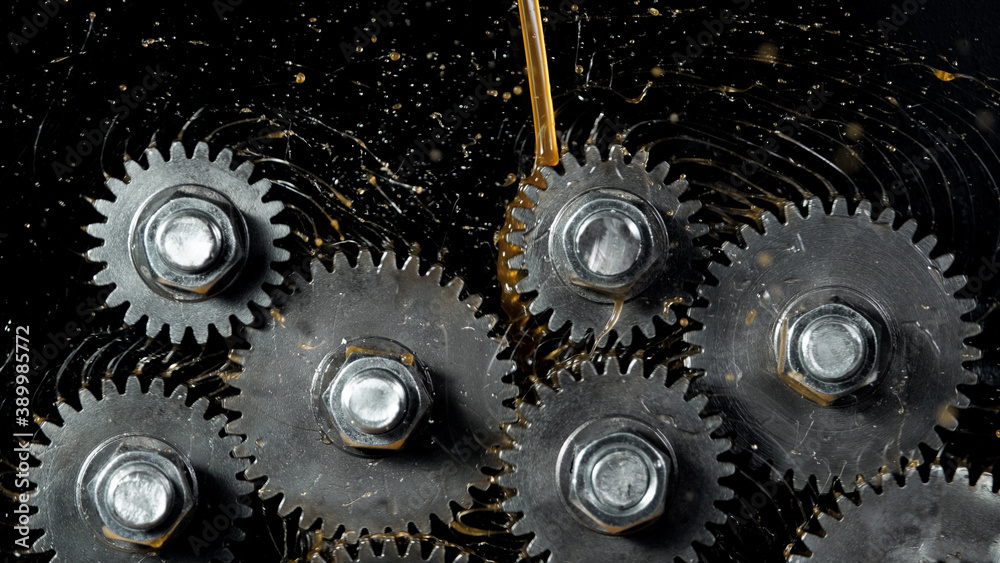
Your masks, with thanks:
M 229 455 L 239 438 L 218 437 L 226 422 L 225 415 L 206 420 L 207 399 L 199 398 L 188 407 L 187 388 L 179 385 L 165 396 L 162 379 L 154 379 L 149 391 L 143 392 L 138 378 L 130 377 L 122 394 L 111 380 L 104 380 L 101 399 L 87 389 L 81 390 L 79 397 L 79 411 L 66 402 L 59 403 L 61 426 L 42 423 L 42 432 L 50 445 L 30 446 L 31 453 L 41 461 L 41 466 L 32 470 L 38 488 L 30 498 L 38 507 L 38 514 L 32 516 L 31 523 L 44 530 L 32 552 L 54 550 L 52 561 L 78 561 L 78 555 L 70 554 L 79 554 L 82 548 L 86 548 L 86 559 L 105 563 L 133 562 L 137 558 L 231 560 L 227 544 L 244 537 L 236 520 L 251 515 L 243 499 L 253 491 L 253 485 L 236 477 L 247 467 L 247 462 Z M 78 484 L 78 480 L 83 478 L 90 459 L 105 444 L 126 438 L 136 442 L 146 436 L 172 445 L 174 451 L 186 456 L 196 475 L 197 502 L 186 528 L 178 530 L 182 537 L 170 537 L 155 550 L 124 551 L 101 538 L 93 523 L 88 523 L 82 515 L 78 493 L 86 483 Z

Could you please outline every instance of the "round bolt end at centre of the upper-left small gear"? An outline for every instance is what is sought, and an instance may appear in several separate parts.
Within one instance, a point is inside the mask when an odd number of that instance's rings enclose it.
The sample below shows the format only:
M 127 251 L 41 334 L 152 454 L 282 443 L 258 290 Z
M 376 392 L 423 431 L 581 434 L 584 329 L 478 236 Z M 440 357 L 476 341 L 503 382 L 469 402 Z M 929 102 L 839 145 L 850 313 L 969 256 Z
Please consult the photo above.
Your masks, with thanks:
M 181 210 L 160 224 L 156 251 L 172 267 L 184 273 L 203 272 L 222 253 L 222 233 L 212 219 L 197 210 Z

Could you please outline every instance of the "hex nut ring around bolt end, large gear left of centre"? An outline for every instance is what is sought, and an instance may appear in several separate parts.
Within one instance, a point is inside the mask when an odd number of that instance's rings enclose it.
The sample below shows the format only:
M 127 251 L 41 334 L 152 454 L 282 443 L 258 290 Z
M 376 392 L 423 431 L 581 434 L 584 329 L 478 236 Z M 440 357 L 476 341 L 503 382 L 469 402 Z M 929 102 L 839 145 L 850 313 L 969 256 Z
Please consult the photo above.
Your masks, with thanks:
M 342 445 L 362 450 L 395 451 L 420 427 L 433 406 L 433 396 L 415 360 L 378 352 L 355 352 L 348 356 L 333 381 L 323 391 L 323 406 L 339 433 Z M 405 410 L 398 422 L 380 432 L 365 432 L 356 425 L 344 405 L 344 390 L 353 379 L 369 370 L 389 372 L 405 389 Z

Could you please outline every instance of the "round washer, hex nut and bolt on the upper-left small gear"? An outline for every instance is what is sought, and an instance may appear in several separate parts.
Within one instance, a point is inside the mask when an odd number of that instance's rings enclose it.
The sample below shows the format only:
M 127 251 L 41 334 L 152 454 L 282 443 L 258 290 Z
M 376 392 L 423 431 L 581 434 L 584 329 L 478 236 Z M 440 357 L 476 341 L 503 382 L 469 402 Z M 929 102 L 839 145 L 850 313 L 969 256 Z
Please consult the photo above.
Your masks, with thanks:
M 152 289 L 178 301 L 213 297 L 247 259 L 242 213 L 204 186 L 176 186 L 151 197 L 130 235 L 132 261 Z

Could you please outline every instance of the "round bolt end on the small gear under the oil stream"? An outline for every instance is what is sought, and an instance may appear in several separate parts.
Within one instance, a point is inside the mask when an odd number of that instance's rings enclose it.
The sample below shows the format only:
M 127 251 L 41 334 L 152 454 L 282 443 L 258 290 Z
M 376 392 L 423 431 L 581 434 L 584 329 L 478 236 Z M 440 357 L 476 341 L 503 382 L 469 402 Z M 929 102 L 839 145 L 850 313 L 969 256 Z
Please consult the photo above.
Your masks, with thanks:
M 587 217 L 576 232 L 576 252 L 591 272 L 604 276 L 631 268 L 642 250 L 639 226 L 614 209 Z

